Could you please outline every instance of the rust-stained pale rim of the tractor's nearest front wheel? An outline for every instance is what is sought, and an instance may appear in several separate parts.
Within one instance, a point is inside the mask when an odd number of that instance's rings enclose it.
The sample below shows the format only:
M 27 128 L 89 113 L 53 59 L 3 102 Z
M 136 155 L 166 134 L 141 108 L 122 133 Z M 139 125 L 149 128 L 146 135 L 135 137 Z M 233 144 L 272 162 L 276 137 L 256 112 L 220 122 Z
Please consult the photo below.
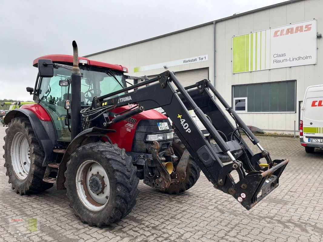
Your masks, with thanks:
M 105 169 L 94 160 L 86 160 L 76 172 L 76 191 L 82 204 L 99 211 L 109 201 L 110 184 Z

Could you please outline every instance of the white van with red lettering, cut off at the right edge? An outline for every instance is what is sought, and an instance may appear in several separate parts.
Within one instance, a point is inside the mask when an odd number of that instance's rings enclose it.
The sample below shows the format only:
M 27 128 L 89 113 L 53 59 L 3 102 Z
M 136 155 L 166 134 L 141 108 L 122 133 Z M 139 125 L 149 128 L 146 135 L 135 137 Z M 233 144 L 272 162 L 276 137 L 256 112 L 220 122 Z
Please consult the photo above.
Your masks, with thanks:
M 307 153 L 323 148 L 323 85 L 306 89 L 299 121 L 299 139 Z

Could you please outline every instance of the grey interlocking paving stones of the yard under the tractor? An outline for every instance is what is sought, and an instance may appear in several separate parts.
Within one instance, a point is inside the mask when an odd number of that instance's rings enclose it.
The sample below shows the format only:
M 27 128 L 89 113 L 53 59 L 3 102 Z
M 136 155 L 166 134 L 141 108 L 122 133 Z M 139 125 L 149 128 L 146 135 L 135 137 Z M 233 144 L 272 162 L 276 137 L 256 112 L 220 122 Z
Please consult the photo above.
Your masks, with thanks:
M 5 127 L 0 127 L 0 147 Z M 307 154 L 299 139 L 259 137 L 273 158 L 289 158 L 279 187 L 250 211 L 213 188 L 202 174 L 182 195 L 165 195 L 139 183 L 132 212 L 97 228 L 83 224 L 55 187 L 17 195 L 8 184 L 0 149 L 0 241 L 323 241 L 323 151 Z M 255 147 L 252 148 L 257 151 Z M 12 231 L 11 219 L 37 218 L 35 232 Z

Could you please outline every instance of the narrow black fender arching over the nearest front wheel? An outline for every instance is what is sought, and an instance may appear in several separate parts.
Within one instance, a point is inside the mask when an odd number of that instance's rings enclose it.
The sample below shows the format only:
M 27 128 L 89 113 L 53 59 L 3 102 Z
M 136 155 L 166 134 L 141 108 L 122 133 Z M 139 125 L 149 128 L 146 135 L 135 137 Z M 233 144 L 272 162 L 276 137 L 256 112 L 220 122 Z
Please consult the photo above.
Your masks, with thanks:
M 98 142 L 102 136 L 107 138 L 107 140 L 112 144 L 109 136 L 106 133 L 116 132 L 113 129 L 103 129 L 98 127 L 88 128 L 81 133 L 79 133 L 72 142 L 68 145 L 65 154 L 62 158 L 61 163 L 58 167 L 58 174 L 56 180 L 56 189 L 63 190 L 66 189 L 64 186 L 65 183 L 65 171 L 67 170 L 67 162 L 69 161 L 69 157 L 75 152 L 78 147 L 87 145 L 89 143 Z

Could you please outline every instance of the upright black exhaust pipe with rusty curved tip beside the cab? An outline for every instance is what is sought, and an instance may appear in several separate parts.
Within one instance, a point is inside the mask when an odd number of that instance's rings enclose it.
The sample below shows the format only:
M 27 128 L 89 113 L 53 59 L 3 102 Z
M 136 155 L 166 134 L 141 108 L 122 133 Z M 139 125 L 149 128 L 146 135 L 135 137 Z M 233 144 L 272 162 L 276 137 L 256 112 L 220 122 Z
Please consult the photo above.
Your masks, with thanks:
M 73 45 L 73 67 L 71 76 L 71 140 L 81 132 L 81 74 L 78 67 L 78 45 Z

